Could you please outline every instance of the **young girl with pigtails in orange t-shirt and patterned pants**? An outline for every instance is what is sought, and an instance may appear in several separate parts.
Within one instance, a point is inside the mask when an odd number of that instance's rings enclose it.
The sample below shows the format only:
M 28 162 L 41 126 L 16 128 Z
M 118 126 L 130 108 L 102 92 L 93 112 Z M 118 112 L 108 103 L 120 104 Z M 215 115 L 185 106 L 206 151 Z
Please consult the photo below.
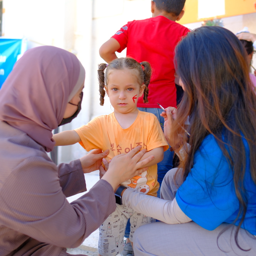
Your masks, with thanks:
M 168 149 L 168 144 L 156 116 L 139 111 L 136 106 L 142 95 L 143 101 L 147 102 L 150 77 L 151 66 L 147 61 L 138 63 L 132 58 L 117 58 L 109 64 L 100 64 L 100 105 L 103 106 L 106 93 L 114 112 L 96 117 L 75 130 L 58 133 L 53 138 L 57 146 L 79 142 L 87 151 L 95 148 L 103 151 L 108 149 L 108 161 L 141 145 L 142 149 L 148 151 L 142 159 L 150 155 L 154 155 L 154 159 L 147 164 L 147 171 L 121 185 L 157 196 L 157 163 L 162 161 L 163 152 Z M 155 222 L 155 219 L 122 205 L 121 200 L 118 200 L 118 191 L 116 194 L 117 208 L 100 226 L 99 254 L 102 256 L 115 256 L 123 250 L 124 230 L 128 219 L 131 223 L 131 241 L 138 227 Z

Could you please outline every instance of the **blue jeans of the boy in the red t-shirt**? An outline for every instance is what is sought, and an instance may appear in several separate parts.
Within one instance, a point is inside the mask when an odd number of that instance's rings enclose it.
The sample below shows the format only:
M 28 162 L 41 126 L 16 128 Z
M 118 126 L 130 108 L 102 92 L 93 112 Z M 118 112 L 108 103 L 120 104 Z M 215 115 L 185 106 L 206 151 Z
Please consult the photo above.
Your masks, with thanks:
M 165 118 L 161 117 L 160 114 L 163 112 L 160 108 L 138 108 L 140 111 L 148 112 L 154 114 L 163 130 L 163 123 L 165 122 Z M 174 156 L 174 151 L 170 151 L 169 149 L 165 151 L 163 155 L 163 161 L 157 164 L 157 181 L 162 185 L 163 178 L 165 177 L 166 172 L 172 169 L 172 160 Z M 160 187 L 157 191 L 157 197 L 160 198 Z M 128 220 L 124 237 L 129 238 L 130 235 L 130 220 Z

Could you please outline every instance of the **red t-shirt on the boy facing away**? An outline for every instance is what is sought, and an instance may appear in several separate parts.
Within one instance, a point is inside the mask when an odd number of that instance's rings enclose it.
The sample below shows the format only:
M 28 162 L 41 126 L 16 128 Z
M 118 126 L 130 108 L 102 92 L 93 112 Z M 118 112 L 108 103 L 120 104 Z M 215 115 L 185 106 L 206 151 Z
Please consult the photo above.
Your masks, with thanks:
M 176 87 L 174 83 L 174 49 L 189 29 L 164 16 L 128 22 L 112 36 L 120 43 L 118 52 L 127 48 L 127 57 L 139 63 L 148 61 L 153 69 L 149 85 L 148 103 L 143 97 L 138 107 L 176 107 Z

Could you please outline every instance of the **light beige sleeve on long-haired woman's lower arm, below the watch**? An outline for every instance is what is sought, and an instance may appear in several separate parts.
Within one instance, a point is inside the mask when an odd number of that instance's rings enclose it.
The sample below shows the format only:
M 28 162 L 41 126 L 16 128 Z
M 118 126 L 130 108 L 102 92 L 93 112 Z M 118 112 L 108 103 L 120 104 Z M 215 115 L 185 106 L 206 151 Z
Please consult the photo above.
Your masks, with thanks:
M 148 196 L 133 189 L 126 189 L 122 196 L 123 204 L 146 216 L 167 224 L 179 224 L 192 221 L 181 210 L 176 199 L 168 201 Z

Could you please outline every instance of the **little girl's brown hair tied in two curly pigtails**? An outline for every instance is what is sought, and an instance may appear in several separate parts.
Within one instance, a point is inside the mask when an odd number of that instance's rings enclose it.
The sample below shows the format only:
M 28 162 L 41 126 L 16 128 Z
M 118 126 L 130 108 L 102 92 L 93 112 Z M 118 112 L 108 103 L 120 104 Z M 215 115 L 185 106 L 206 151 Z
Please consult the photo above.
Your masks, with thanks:
M 106 70 L 105 70 L 106 69 Z M 148 102 L 148 85 L 150 83 L 151 78 L 151 66 L 150 63 L 147 61 L 142 61 L 138 63 L 133 58 L 117 58 L 112 60 L 111 63 L 101 63 L 99 64 L 98 69 L 98 80 L 99 80 L 99 92 L 100 92 L 100 105 L 103 106 L 104 104 L 104 97 L 106 94 L 105 85 L 108 84 L 108 73 L 110 70 L 113 69 L 134 69 L 136 72 L 136 77 L 138 80 L 138 84 L 145 85 L 144 88 L 144 96 L 143 102 Z M 104 73 L 105 70 L 105 73 Z

